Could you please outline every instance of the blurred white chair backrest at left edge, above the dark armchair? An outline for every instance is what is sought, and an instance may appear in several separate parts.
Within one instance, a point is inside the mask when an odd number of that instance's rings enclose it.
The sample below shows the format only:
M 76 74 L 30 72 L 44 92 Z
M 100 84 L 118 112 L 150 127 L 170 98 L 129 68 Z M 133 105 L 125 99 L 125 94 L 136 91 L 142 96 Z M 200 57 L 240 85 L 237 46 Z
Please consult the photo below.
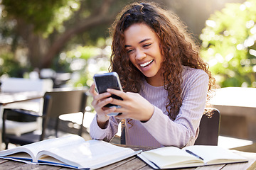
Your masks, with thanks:
M 21 91 L 49 91 L 53 89 L 51 79 L 23 79 L 23 78 L 4 78 L 1 79 L 2 92 L 21 92 Z

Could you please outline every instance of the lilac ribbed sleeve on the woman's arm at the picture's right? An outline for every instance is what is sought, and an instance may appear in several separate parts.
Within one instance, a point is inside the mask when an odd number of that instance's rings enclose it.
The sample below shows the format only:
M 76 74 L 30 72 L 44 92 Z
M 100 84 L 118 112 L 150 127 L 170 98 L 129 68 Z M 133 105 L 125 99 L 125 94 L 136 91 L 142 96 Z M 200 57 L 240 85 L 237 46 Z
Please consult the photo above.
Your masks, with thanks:
M 198 126 L 206 106 L 208 75 L 201 69 L 184 68 L 182 84 L 182 106 L 173 121 L 164 108 L 155 106 L 144 128 L 164 146 L 184 147 L 193 145 L 198 136 Z M 163 100 L 165 101 L 165 100 Z

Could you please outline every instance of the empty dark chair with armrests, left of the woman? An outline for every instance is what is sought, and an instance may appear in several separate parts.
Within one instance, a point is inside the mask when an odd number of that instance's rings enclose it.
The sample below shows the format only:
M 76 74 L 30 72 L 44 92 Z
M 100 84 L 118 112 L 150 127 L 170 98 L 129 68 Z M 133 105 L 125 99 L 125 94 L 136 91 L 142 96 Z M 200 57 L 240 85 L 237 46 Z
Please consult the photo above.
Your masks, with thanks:
M 86 101 L 87 95 L 85 89 L 69 91 L 55 90 L 47 91 L 44 94 L 42 115 L 31 111 L 12 109 L 12 111 L 16 111 L 18 114 L 42 118 L 41 130 L 35 130 L 20 136 L 6 133 L 6 116 L 8 115 L 9 109 L 5 109 L 3 113 L 2 138 L 3 142 L 6 144 L 6 149 L 8 149 L 9 143 L 16 145 L 27 145 L 33 142 L 48 139 L 50 137 L 58 137 L 59 134 L 65 135 L 66 132 L 63 132 L 60 129 L 63 123 L 60 123 L 59 119 L 59 116 L 63 114 L 82 113 L 82 118 L 80 119 L 82 120 L 80 129 L 75 131 L 76 134 L 81 136 Z

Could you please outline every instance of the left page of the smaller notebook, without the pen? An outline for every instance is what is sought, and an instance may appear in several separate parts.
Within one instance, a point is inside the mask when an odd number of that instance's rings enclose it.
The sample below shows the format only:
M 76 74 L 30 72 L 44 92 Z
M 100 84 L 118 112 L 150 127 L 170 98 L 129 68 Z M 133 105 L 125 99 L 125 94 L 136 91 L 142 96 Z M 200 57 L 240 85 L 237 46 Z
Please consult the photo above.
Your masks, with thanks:
M 154 162 L 161 169 L 173 167 L 199 166 L 203 162 L 197 157 L 191 156 L 178 147 L 160 147 L 142 152 L 142 156 Z

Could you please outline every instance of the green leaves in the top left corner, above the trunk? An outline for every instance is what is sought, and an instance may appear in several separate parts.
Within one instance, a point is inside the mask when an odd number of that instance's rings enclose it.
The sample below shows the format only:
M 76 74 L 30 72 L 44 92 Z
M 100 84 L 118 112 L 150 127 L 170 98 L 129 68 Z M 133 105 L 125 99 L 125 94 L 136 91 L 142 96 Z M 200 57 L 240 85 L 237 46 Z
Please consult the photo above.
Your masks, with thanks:
M 61 23 L 79 9 L 79 0 L 2 0 L 4 13 L 9 17 L 22 18 L 33 24 L 34 30 L 45 36 L 61 29 Z

